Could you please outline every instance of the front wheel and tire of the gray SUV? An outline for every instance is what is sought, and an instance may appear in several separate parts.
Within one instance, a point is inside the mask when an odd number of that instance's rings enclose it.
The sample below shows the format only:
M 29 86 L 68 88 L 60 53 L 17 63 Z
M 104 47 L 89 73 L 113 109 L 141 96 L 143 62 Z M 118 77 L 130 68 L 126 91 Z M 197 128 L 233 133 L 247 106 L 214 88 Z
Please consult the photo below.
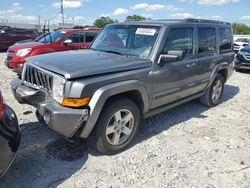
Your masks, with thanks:
M 125 117 L 129 119 L 125 121 Z M 139 124 L 140 110 L 133 101 L 111 101 L 105 105 L 96 124 L 96 148 L 108 155 L 123 151 L 134 138 Z

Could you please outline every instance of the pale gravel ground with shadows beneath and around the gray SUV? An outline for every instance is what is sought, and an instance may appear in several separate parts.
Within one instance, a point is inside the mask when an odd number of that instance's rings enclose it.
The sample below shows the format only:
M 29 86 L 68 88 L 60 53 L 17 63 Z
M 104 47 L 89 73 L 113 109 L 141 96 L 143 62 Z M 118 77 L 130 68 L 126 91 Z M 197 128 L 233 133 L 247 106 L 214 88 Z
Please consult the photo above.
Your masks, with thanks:
M 144 120 L 129 149 L 104 156 L 86 141 L 67 142 L 14 100 L 4 55 L 0 88 L 22 141 L 0 187 L 250 187 L 250 73 L 233 74 L 219 106 L 192 101 Z

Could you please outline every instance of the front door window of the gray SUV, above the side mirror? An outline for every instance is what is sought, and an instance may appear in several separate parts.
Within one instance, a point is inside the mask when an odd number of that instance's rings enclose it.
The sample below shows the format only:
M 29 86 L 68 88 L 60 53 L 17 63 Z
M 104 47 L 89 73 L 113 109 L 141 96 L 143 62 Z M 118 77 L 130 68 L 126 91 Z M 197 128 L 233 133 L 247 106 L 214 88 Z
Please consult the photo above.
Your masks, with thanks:
M 193 54 L 193 29 L 171 29 L 168 33 L 163 53 L 168 54 L 171 50 L 183 51 L 185 55 Z

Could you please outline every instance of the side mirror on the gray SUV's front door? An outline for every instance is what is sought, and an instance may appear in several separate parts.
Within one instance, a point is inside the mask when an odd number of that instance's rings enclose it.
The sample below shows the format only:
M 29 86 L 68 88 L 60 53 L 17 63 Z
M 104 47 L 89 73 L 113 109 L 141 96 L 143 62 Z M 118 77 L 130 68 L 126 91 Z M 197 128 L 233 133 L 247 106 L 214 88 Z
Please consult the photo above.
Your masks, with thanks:
M 183 51 L 170 50 L 167 54 L 161 54 L 158 60 L 159 65 L 163 65 L 168 62 L 180 61 L 183 59 Z

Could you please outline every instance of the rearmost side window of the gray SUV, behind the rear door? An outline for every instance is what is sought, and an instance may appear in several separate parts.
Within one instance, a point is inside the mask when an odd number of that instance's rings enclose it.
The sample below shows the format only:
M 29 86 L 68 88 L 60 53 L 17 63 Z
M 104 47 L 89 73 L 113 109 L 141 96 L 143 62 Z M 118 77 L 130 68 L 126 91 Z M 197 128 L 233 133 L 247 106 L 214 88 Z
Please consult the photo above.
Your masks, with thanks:
M 231 49 L 232 48 L 231 29 L 220 28 L 219 34 L 220 34 L 220 51 Z

